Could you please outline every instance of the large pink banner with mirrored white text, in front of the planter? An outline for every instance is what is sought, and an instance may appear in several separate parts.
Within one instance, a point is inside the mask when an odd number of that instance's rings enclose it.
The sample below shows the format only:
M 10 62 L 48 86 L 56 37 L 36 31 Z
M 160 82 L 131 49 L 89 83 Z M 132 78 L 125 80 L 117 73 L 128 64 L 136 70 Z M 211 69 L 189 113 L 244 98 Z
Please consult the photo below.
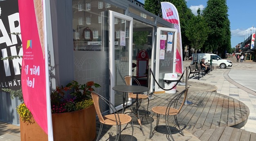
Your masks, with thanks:
M 23 48 L 23 98 L 35 121 L 48 134 L 42 1 L 18 0 L 18 4 Z

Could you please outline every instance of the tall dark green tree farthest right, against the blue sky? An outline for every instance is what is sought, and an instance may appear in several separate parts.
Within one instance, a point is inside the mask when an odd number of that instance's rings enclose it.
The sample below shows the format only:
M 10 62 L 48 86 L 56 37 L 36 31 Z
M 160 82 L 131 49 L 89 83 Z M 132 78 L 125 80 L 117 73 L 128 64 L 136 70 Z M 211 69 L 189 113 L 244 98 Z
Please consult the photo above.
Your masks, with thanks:
M 203 10 L 203 17 L 209 26 L 208 39 L 204 44 L 205 50 L 224 54 L 225 50 L 231 48 L 230 22 L 227 12 L 226 0 L 207 1 L 207 7 Z

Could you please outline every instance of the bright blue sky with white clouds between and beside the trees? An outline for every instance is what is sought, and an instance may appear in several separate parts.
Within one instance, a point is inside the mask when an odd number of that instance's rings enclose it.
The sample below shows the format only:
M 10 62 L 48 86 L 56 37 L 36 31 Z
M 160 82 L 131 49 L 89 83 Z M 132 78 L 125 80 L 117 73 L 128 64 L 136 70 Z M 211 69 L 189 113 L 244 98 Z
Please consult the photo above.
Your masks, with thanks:
M 144 3 L 144 0 L 139 0 Z M 187 6 L 196 15 L 198 7 L 204 9 L 207 0 L 186 0 Z M 256 0 L 227 0 L 227 7 L 230 30 L 231 48 L 243 42 L 249 35 L 256 30 Z M 254 27 L 254 28 L 253 28 Z

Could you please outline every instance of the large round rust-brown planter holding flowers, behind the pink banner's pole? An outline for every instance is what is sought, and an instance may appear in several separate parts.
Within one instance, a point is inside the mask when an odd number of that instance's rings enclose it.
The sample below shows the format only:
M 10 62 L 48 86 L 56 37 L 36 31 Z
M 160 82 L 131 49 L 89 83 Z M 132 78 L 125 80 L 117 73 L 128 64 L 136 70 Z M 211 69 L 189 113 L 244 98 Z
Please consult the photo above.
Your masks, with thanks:
M 52 114 L 54 141 L 93 141 L 96 137 L 94 105 L 83 110 Z M 37 123 L 20 121 L 21 141 L 47 141 L 47 134 Z

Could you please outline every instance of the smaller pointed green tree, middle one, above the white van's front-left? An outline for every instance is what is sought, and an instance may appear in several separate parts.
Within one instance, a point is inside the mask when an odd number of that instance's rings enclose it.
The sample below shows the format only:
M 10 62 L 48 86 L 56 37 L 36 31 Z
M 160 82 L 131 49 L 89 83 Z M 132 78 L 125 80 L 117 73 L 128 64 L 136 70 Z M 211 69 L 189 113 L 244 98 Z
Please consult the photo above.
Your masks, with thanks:
M 188 28 L 186 29 L 186 37 L 191 41 L 191 47 L 195 50 L 201 49 L 204 45 L 204 42 L 208 38 L 209 28 L 207 26 L 204 17 L 200 14 L 201 11 L 198 9 L 198 15 L 193 16 L 189 20 Z

